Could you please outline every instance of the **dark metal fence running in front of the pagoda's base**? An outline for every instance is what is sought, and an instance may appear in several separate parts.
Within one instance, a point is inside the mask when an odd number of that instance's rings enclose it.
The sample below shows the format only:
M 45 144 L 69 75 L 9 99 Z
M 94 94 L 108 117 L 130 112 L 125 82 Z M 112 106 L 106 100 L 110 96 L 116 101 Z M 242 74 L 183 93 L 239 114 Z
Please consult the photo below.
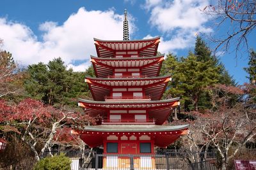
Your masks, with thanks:
M 59 152 L 58 152 L 59 153 Z M 57 154 L 58 154 L 57 153 Z M 207 170 L 216 168 L 216 152 L 156 150 L 156 154 L 102 154 L 96 152 L 65 152 L 72 160 L 72 170 Z M 54 154 L 54 153 L 52 153 Z M 56 153 L 55 153 L 56 154 Z M 46 156 L 46 155 L 44 155 Z

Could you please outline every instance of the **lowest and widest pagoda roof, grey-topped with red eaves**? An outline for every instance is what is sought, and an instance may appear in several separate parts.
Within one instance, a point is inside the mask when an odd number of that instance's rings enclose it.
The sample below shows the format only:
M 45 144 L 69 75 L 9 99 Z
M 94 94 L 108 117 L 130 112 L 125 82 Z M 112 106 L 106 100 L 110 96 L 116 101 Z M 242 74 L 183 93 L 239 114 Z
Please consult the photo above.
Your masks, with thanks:
M 80 131 L 80 138 L 90 147 L 103 144 L 107 136 L 150 136 L 154 145 L 166 147 L 180 136 L 188 134 L 189 125 L 94 125 Z

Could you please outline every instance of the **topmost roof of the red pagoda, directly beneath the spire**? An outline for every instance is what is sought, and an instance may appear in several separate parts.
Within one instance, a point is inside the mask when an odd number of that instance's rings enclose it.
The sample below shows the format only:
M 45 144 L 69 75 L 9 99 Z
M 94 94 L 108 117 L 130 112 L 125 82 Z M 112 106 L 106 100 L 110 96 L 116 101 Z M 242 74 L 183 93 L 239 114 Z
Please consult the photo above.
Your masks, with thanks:
M 101 40 L 94 38 L 98 57 L 113 57 L 115 52 L 139 52 L 140 56 L 156 55 L 160 37 L 138 40 Z

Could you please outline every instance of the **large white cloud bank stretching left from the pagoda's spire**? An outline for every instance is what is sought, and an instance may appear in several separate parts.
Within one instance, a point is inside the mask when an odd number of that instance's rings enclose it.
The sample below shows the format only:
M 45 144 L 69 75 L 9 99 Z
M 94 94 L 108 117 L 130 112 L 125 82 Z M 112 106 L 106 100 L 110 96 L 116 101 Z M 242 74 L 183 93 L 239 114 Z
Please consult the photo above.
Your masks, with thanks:
M 130 24 L 131 34 L 134 25 Z M 49 62 L 61 57 L 69 67 L 84 71 L 89 66 L 90 55 L 96 55 L 93 38 L 122 39 L 123 15 L 115 11 L 86 11 L 80 8 L 62 24 L 44 22 L 38 28 L 42 31 L 39 41 L 28 26 L 0 18 L 0 39 L 3 48 L 12 52 L 15 60 L 22 64 Z M 74 66 L 76 60 L 86 61 Z

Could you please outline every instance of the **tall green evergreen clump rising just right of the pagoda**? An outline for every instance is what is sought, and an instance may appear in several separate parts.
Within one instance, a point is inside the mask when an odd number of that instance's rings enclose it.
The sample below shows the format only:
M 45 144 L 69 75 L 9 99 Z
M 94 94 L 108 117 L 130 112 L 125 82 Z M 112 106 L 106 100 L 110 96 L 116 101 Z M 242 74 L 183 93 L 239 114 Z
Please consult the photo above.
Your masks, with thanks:
M 163 97 L 182 97 L 180 103 L 185 111 L 211 108 L 211 97 L 205 90 L 208 85 L 235 84 L 200 36 L 196 38 L 195 53 L 190 52 L 187 58 L 181 59 L 167 55 L 160 73 L 172 75 L 172 82 L 168 84 Z

